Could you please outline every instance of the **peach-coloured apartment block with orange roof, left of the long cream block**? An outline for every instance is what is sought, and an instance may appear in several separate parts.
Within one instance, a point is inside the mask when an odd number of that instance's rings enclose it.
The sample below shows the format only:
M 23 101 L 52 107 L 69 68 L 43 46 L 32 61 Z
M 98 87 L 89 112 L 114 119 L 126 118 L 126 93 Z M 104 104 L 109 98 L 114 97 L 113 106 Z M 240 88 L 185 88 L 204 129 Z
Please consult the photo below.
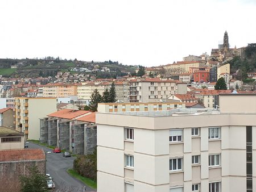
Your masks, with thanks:
M 40 94 L 41 95 L 41 94 Z M 77 95 L 77 84 L 47 84 L 43 85 L 43 97 L 67 97 Z

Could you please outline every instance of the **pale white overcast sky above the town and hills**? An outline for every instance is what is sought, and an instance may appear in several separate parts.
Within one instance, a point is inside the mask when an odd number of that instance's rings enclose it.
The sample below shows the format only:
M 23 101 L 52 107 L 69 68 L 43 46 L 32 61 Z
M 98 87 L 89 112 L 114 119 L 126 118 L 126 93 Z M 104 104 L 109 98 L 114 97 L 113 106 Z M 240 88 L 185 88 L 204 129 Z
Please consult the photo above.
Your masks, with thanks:
M 0 58 L 164 65 L 256 43 L 255 0 L 1 0 Z

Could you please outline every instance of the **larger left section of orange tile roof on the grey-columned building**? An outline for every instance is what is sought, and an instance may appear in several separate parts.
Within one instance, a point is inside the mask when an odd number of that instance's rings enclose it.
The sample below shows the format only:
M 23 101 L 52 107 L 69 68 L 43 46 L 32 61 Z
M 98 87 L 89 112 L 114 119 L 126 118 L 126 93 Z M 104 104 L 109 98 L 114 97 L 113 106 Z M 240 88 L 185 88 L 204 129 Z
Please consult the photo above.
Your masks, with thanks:
M 63 119 L 74 119 L 81 115 L 84 115 L 90 111 L 84 111 L 84 110 L 73 110 L 73 109 L 63 109 L 56 112 L 53 112 L 52 114 L 49 114 L 47 116 L 52 116 L 55 118 L 63 118 Z

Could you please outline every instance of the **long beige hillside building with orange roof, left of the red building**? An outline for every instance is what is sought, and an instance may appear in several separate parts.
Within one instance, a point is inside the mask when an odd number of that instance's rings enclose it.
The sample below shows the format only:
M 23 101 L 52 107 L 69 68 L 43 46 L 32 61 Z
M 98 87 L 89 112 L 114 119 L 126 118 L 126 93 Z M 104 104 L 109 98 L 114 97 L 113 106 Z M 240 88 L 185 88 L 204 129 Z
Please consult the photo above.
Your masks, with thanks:
M 175 64 L 164 66 L 167 73 L 189 73 L 189 68 L 200 68 L 207 66 L 207 61 L 178 61 Z

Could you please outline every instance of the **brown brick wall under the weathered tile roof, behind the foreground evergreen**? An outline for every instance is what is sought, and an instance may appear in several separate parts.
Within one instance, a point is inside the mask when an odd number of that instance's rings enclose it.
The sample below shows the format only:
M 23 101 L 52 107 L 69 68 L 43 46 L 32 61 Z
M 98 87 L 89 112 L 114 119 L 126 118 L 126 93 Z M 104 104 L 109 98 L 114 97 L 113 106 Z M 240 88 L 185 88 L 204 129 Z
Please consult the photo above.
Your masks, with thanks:
M 38 166 L 40 173 L 45 173 L 45 160 L 34 161 Z M 28 170 L 32 166 L 32 161 L 14 161 L 14 162 L 0 162 L 0 180 L 2 178 L 16 178 L 19 176 L 30 174 Z

